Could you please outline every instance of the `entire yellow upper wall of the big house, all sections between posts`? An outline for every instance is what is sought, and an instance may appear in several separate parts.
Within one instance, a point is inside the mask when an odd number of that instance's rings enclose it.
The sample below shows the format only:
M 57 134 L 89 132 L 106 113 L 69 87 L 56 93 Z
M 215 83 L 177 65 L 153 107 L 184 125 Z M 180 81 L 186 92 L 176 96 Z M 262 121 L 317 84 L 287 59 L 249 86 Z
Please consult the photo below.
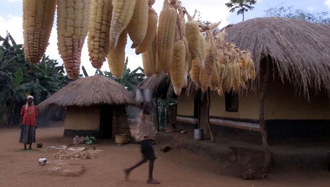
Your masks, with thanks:
M 225 111 L 224 96 L 219 97 L 211 92 L 210 116 L 259 119 L 260 90 L 249 92 L 239 97 L 239 112 Z M 178 100 L 178 115 L 193 116 L 193 98 L 180 96 Z M 265 98 L 265 119 L 283 120 L 330 120 L 330 101 L 325 94 L 314 96 L 310 94 L 310 102 L 304 97 L 296 97 L 294 89 L 280 80 L 270 78 Z

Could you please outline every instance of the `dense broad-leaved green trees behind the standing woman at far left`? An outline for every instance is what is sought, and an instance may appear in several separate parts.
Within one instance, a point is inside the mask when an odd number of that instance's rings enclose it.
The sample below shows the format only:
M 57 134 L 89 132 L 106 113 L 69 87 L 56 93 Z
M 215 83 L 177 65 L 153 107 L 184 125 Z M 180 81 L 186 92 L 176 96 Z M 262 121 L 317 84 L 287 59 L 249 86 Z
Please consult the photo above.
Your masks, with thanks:
M 46 56 L 38 64 L 28 63 L 23 45 L 16 44 L 10 33 L 0 36 L 0 42 L 0 125 L 8 126 L 27 95 L 33 95 L 38 104 L 71 80 L 64 75 L 63 65 Z

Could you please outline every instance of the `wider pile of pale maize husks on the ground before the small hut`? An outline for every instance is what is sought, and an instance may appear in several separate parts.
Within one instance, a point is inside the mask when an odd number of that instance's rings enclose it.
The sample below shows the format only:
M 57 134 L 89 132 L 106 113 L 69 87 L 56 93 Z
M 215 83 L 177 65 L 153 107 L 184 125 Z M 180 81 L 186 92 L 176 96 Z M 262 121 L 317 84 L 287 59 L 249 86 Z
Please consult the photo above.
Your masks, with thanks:
M 96 159 L 101 157 L 101 149 L 89 150 L 89 151 L 68 151 L 61 150 L 53 155 L 55 159 L 71 159 L 71 160 L 85 160 Z

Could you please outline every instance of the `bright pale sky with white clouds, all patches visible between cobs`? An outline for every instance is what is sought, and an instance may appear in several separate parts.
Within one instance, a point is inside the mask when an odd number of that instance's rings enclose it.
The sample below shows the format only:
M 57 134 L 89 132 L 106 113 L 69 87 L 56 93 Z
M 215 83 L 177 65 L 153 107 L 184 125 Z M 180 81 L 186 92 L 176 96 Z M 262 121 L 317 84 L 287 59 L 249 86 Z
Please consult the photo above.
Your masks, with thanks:
M 225 7 L 225 3 L 229 0 L 182 0 L 182 6 L 192 15 L 194 10 L 200 12 L 201 20 L 208 20 L 211 22 L 217 22 L 221 20 L 220 28 L 228 24 L 236 24 L 242 21 L 242 15 L 237 15 L 236 12 L 230 13 L 229 9 Z M 156 0 L 153 8 L 159 15 L 162 8 L 163 0 Z M 258 0 L 257 4 L 254 5 L 253 11 L 245 13 L 245 20 L 264 17 L 265 11 L 271 7 L 283 4 L 285 7 L 294 6 L 297 9 L 304 9 L 310 12 L 330 12 L 330 0 Z M 23 43 L 22 33 L 22 0 L 0 0 L 0 35 L 5 36 L 6 31 L 10 32 L 17 44 Z M 51 59 L 57 59 L 59 64 L 63 61 L 60 58 L 57 51 L 57 34 L 56 34 L 56 18 L 53 24 L 51 36 L 49 39 L 49 46 L 46 50 L 46 55 Z M 134 49 L 130 49 L 131 41 L 128 39 L 126 45 L 126 56 L 128 56 L 128 67 L 133 70 L 142 65 L 142 57 L 135 54 Z M 92 75 L 95 73 L 95 68 L 92 67 L 87 50 L 87 37 L 85 40 L 84 47 L 82 49 L 81 56 L 81 67 L 82 65 L 86 68 L 87 73 Z M 110 71 L 107 61 L 104 62 L 102 71 Z M 82 73 L 82 71 L 80 72 Z

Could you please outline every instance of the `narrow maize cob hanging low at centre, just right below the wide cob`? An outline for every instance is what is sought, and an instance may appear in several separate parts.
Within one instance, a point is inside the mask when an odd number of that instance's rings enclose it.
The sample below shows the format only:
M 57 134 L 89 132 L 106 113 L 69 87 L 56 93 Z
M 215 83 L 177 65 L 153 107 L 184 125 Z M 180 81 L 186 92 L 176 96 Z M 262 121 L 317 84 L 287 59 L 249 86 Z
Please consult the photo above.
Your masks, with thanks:
M 185 76 L 186 49 L 184 42 L 179 40 L 174 43 L 173 62 L 171 65 L 171 81 L 174 93 L 180 96 Z

